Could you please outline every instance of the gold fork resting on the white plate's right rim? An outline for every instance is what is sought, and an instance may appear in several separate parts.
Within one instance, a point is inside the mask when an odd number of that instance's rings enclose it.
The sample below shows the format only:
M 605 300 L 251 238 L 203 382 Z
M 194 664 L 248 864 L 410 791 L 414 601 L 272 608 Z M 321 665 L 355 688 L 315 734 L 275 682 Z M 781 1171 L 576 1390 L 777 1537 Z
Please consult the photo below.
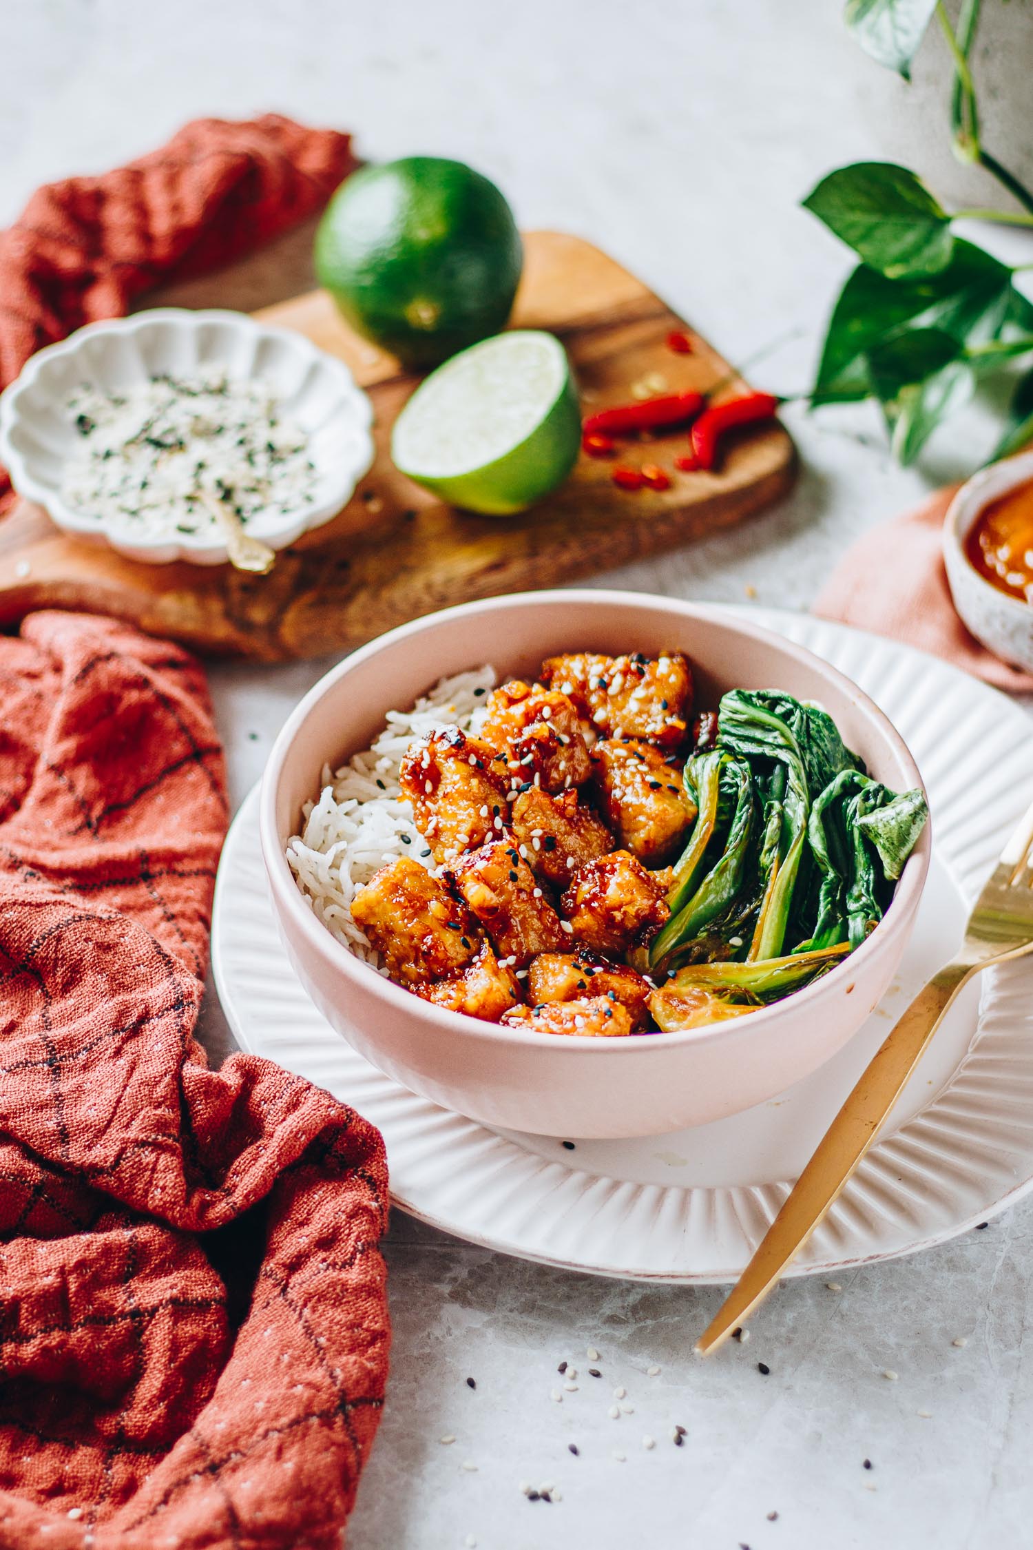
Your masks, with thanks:
M 875 1141 L 960 990 L 991 964 L 1028 952 L 1033 952 L 1033 808 L 1019 822 L 976 901 L 960 952 L 918 992 L 869 1062 L 717 1318 L 697 1341 L 700 1355 L 717 1350 L 750 1318 L 807 1243 Z

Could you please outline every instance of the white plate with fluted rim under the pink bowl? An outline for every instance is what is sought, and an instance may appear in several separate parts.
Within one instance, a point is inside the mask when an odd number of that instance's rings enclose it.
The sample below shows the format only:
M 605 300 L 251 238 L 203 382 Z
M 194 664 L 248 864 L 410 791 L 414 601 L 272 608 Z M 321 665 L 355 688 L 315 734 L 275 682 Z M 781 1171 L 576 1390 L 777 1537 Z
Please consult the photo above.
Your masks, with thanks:
M 736 611 L 739 612 L 739 611 Z M 960 941 L 968 905 L 1033 795 L 1033 721 L 934 657 L 843 625 L 753 609 L 889 715 L 923 772 L 934 860 L 901 970 L 856 1037 L 779 1097 L 717 1124 L 633 1141 L 496 1132 L 383 1076 L 319 1015 L 280 946 L 259 854 L 257 792 L 218 871 L 212 953 L 245 1049 L 373 1121 L 392 1198 L 506 1254 L 601 1276 L 734 1280 L 894 1017 Z M 918 1066 L 790 1274 L 830 1274 L 942 1243 L 1033 1189 L 1033 967 L 983 975 Z

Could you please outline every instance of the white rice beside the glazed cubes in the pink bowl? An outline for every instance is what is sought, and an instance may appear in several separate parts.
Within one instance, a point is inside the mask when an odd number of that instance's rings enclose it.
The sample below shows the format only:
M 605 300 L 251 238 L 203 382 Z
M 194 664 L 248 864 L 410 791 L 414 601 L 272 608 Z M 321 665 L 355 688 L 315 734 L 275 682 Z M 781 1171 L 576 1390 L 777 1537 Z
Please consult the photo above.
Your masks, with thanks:
M 400 856 L 434 871 L 412 804 L 398 786 L 403 756 L 410 742 L 441 727 L 479 732 L 494 685 L 494 668 L 475 668 L 441 679 L 412 710 L 389 710 L 372 747 L 353 753 L 339 770 L 324 764 L 319 801 L 305 803 L 302 832 L 287 842 L 287 860 L 313 913 L 384 975 L 379 953 L 352 919 L 352 901 L 373 873 Z

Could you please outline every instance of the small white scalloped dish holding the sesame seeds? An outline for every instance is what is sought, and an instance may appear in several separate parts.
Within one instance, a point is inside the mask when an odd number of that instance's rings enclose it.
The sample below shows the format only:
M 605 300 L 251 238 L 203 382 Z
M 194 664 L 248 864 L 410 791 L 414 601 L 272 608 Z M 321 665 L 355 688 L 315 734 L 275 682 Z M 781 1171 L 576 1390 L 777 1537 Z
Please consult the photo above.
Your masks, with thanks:
M 212 525 L 197 535 L 141 530 L 132 518 L 99 518 L 62 494 L 79 432 L 68 409 L 84 384 L 116 392 L 160 375 L 192 377 L 223 367 L 231 378 L 268 383 L 277 412 L 305 436 L 314 463 L 311 499 L 294 508 L 266 508 L 246 530 L 273 549 L 330 521 L 347 504 L 373 460 L 367 395 L 344 361 L 288 329 L 273 329 L 239 312 L 175 307 L 93 322 L 60 344 L 39 350 L 0 395 L 0 462 L 19 494 L 45 507 L 57 527 L 108 542 L 130 560 L 221 564 L 226 542 Z

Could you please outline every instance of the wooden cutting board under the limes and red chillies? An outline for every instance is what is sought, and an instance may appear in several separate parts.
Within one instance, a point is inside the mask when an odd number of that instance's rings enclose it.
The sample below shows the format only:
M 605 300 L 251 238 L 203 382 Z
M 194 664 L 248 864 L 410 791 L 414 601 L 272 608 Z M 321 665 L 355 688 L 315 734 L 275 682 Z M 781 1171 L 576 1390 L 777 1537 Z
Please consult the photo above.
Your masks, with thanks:
M 674 392 L 728 375 L 709 344 L 598 248 L 551 231 L 530 232 L 525 248 L 513 324 L 559 335 L 585 409 L 627 401 L 646 378 Z M 686 450 L 681 432 L 623 456 L 666 468 L 666 491 L 621 491 L 612 463 L 582 456 L 568 482 L 531 512 L 455 512 L 404 479 L 387 456 L 392 423 L 418 378 L 359 339 L 324 291 L 256 316 L 342 356 L 373 400 L 376 462 L 345 510 L 283 550 L 268 577 L 249 577 L 229 566 L 124 560 L 65 536 L 22 501 L 0 522 L 0 625 L 56 604 L 116 614 L 201 651 L 269 662 L 319 656 L 449 603 L 554 586 L 686 544 L 768 505 L 793 479 L 793 445 L 779 425 L 737 432 L 716 473 L 674 470 Z M 694 353 L 668 349 L 672 329 L 689 333 Z

